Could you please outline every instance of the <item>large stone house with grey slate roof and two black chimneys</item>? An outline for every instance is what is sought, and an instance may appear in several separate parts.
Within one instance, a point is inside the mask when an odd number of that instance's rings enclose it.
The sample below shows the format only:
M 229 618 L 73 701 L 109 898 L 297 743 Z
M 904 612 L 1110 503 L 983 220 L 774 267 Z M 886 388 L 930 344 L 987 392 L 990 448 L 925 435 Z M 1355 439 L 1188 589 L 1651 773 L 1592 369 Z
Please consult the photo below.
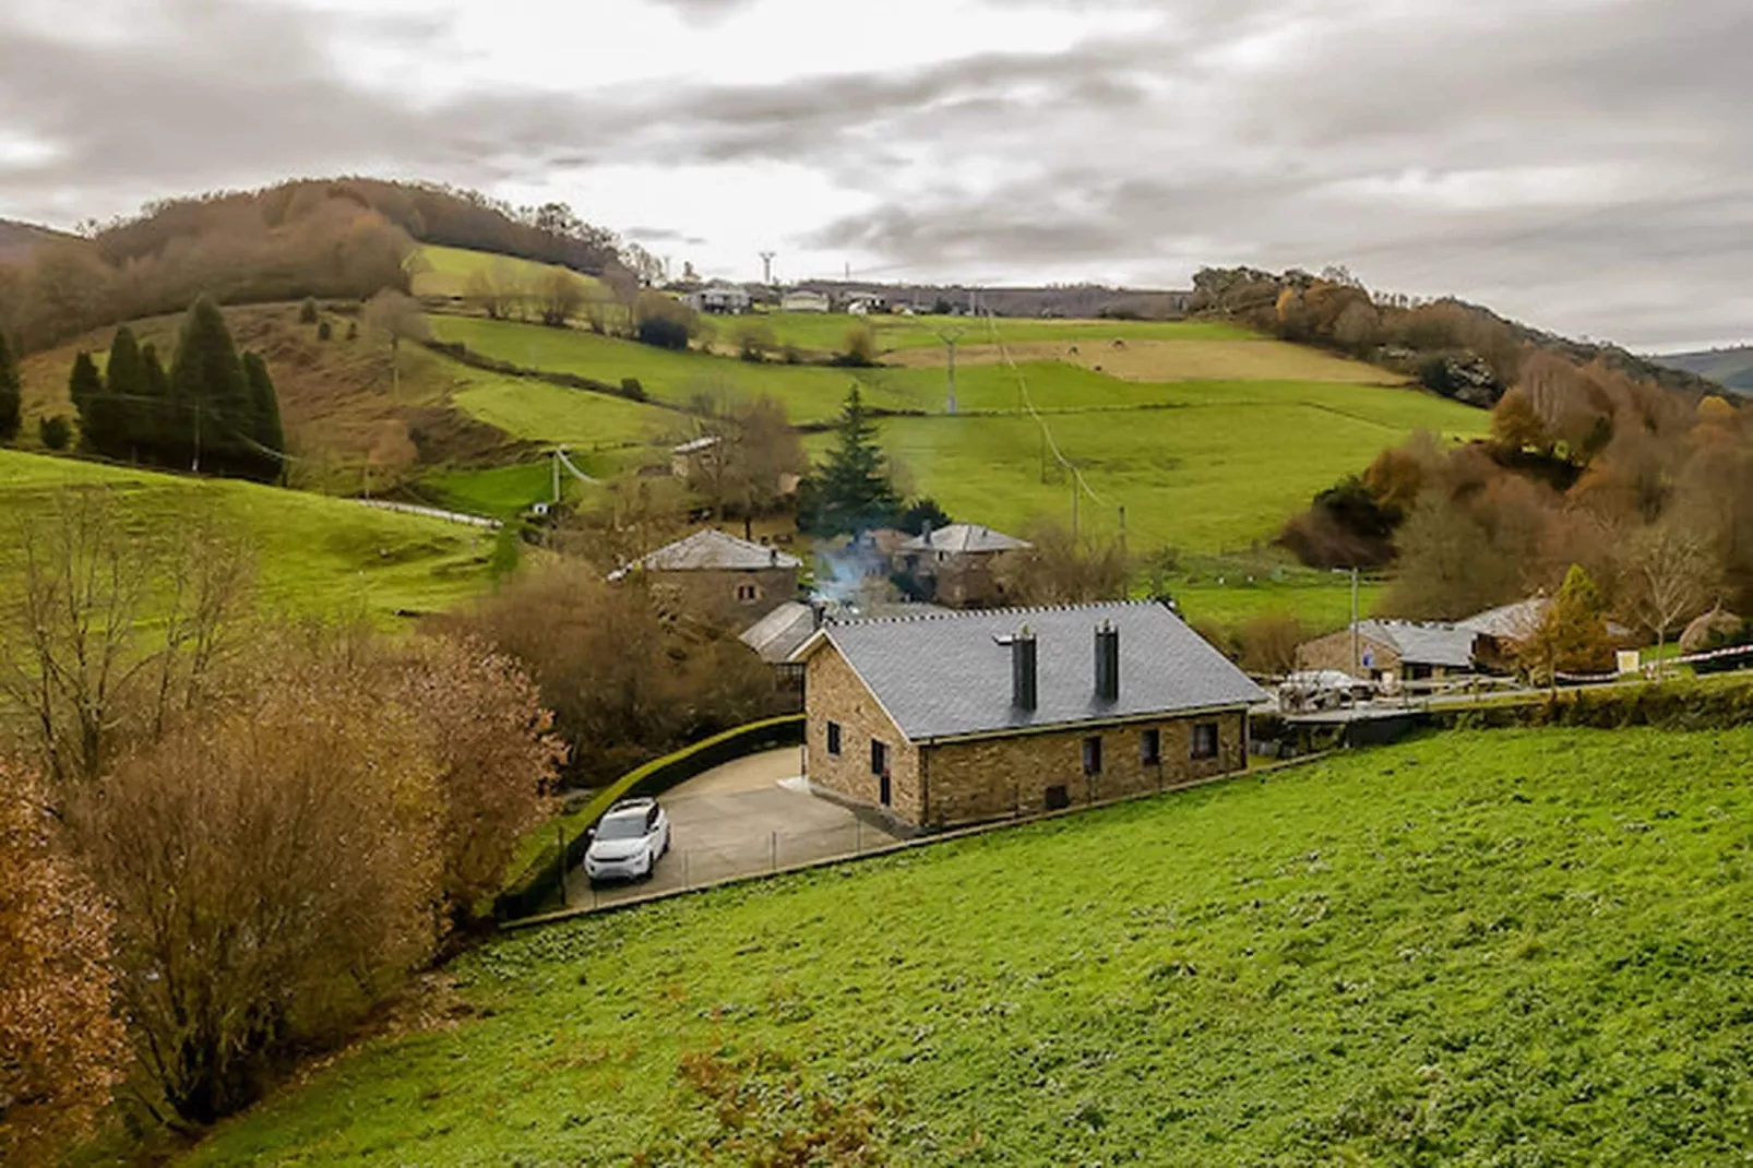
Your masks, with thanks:
M 805 773 L 917 828 L 1241 770 L 1266 694 L 1152 602 L 827 623 L 805 666 Z

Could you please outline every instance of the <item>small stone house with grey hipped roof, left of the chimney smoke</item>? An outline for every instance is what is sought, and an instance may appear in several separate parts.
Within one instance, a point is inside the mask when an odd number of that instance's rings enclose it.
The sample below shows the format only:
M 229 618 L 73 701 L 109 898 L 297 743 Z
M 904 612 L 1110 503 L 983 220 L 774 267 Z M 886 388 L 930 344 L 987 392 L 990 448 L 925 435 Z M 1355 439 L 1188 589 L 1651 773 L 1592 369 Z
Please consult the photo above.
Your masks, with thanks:
M 689 612 L 747 628 L 798 598 L 801 566 L 801 559 L 777 547 L 701 528 L 615 570 L 608 579 L 640 575 Z

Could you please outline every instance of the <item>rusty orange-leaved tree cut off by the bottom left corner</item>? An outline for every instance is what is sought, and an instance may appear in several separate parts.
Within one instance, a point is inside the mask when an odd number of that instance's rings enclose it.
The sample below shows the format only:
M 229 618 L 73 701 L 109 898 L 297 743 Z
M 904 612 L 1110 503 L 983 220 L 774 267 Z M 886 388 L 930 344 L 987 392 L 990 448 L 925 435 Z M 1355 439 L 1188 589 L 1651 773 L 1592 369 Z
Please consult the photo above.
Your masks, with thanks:
M 0 1163 L 56 1163 L 126 1054 L 110 914 L 37 775 L 0 763 Z

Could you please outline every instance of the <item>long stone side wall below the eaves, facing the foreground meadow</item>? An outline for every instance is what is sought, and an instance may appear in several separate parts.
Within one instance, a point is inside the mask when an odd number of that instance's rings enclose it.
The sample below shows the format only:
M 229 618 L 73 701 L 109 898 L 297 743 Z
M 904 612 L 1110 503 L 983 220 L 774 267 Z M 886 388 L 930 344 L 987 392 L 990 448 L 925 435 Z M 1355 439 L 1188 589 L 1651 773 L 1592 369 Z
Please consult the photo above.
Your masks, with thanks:
M 1194 758 L 1194 726 L 1217 728 L 1217 754 Z M 1146 730 L 1159 761 L 1143 759 Z M 1101 740 L 1101 770 L 1085 773 L 1085 740 Z M 1085 724 L 1041 733 L 966 738 L 920 749 L 926 824 L 952 828 L 1003 815 L 1162 791 L 1248 765 L 1248 714 L 1224 710 L 1155 721 Z

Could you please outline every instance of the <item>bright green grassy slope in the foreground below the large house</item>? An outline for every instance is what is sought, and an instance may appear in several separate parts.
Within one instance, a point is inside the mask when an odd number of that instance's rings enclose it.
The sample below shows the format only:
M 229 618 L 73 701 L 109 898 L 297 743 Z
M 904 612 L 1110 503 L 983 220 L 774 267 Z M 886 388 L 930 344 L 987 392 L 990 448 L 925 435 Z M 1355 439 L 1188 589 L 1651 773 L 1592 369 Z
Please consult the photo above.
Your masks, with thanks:
M 1434 737 L 510 937 L 189 1163 L 1728 1163 L 1749 751 Z

